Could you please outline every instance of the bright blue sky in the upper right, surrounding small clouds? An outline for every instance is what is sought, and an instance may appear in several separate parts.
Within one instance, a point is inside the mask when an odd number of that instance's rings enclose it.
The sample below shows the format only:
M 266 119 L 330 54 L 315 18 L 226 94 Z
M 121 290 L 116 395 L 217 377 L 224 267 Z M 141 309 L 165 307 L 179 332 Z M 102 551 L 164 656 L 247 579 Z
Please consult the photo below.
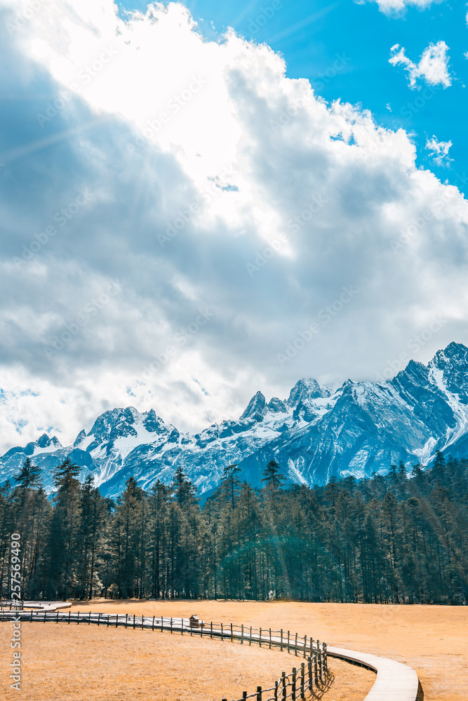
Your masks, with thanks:
M 123 10 L 146 11 L 146 2 L 118 3 Z M 164 3 L 167 4 L 167 3 Z M 247 39 L 265 42 L 283 55 L 290 78 L 307 78 L 325 100 L 342 100 L 370 109 L 375 121 L 387 128 L 401 125 L 417 144 L 417 163 L 430 168 L 443 182 L 466 191 L 468 136 L 466 129 L 468 60 L 468 7 L 462 1 L 444 1 L 419 9 L 386 14 L 374 2 L 352 0 L 290 0 L 274 10 L 269 0 L 195 0 L 186 2 L 201 31 L 210 39 L 227 27 Z M 445 41 L 452 84 L 440 85 L 420 107 L 424 81 L 408 86 L 403 68 L 389 64 L 395 44 L 417 62 L 430 43 Z M 334 69 L 337 57 L 343 66 Z M 419 97 L 419 100 L 418 100 Z M 387 109 L 387 105 L 392 111 Z M 425 149 L 435 135 L 452 142 L 450 163 L 439 166 Z M 466 175 L 464 175 L 466 173 Z

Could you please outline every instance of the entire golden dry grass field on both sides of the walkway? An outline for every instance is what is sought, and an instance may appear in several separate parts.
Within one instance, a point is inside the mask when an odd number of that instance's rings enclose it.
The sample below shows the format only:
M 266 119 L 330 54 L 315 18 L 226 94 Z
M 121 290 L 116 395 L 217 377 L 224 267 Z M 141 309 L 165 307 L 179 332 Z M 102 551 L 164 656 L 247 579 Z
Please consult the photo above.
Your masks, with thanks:
M 184 618 L 196 613 L 208 622 L 289 628 L 330 645 L 408 663 L 422 681 L 424 701 L 468 699 L 468 607 L 100 599 L 72 610 Z M 191 641 L 189 635 L 171 637 L 166 632 L 32 623 L 23 625 L 22 635 L 21 695 L 28 701 L 231 700 L 244 688 L 250 693 L 258 683 L 269 686 L 276 674 L 289 672 L 298 661 L 279 651 L 229 641 Z M 1 698 L 18 698 L 13 690 L 4 692 L 10 636 L 10 624 L 1 624 Z M 333 683 L 317 697 L 362 701 L 375 676 L 338 660 L 330 666 Z

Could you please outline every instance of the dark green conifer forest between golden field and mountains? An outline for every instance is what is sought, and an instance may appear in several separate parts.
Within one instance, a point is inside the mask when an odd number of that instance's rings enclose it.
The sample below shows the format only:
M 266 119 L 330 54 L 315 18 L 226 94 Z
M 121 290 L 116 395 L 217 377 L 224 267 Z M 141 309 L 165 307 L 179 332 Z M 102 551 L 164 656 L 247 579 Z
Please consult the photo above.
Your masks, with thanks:
M 104 498 L 69 459 L 55 494 L 28 458 L 0 489 L 0 585 L 9 597 L 10 536 L 21 536 L 24 599 L 228 598 L 464 604 L 468 601 L 468 461 L 284 487 L 271 461 L 262 489 L 227 465 L 201 507 L 179 468 L 170 486 Z

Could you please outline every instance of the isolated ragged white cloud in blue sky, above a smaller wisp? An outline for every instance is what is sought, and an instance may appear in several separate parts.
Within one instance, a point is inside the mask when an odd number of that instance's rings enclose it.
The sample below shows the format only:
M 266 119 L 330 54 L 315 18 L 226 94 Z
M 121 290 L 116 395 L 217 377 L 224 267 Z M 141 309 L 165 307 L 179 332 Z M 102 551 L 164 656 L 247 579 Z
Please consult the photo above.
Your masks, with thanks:
M 429 44 L 422 52 L 420 62 L 413 63 L 405 54 L 405 49 L 399 44 L 392 46 L 392 57 L 389 63 L 393 66 L 401 64 L 408 71 L 408 82 L 411 88 L 417 86 L 418 79 L 422 79 L 429 85 L 441 85 L 448 88 L 452 84 L 452 78 L 448 72 L 448 46 L 445 41 Z

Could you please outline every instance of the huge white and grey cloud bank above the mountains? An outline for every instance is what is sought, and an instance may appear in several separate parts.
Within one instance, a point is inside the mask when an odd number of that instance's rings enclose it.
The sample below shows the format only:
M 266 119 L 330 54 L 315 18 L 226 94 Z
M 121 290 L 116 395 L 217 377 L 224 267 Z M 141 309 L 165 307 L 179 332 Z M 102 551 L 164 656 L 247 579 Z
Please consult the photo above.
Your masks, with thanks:
M 55 0 L 27 22 L 9 4 L 4 444 L 72 440 L 116 405 L 193 429 L 258 388 L 373 379 L 434 314 L 417 360 L 467 341 L 467 201 L 416 168 L 406 132 L 326 104 L 267 46 L 204 40 L 178 4 L 124 21 L 111 0 Z

